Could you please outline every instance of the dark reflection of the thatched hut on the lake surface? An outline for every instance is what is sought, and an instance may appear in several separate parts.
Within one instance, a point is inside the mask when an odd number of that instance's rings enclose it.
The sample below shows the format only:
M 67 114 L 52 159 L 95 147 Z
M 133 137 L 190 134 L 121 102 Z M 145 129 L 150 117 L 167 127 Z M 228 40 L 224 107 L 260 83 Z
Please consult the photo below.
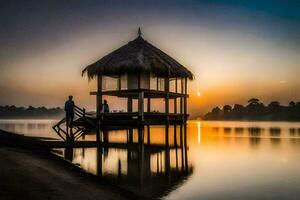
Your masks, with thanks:
M 186 140 L 186 129 L 180 128 L 183 132 L 183 139 Z M 106 144 L 108 149 L 126 149 L 126 167 L 121 166 L 118 170 L 109 173 L 103 170 L 102 159 L 104 152 L 98 149 L 97 171 L 107 181 L 114 182 L 121 188 L 125 188 L 135 194 L 149 199 L 160 199 L 167 195 L 174 188 L 179 187 L 193 172 L 189 166 L 187 145 L 165 145 L 165 144 L 137 144 L 112 146 Z M 110 147 L 111 146 L 111 147 Z M 123 174 L 121 168 L 127 169 Z

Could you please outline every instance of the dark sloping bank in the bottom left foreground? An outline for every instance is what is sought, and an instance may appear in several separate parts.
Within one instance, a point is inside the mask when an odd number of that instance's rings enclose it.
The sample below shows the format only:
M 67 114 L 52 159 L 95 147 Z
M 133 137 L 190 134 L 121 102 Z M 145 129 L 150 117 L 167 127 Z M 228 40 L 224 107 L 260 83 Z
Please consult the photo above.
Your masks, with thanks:
M 0 199 L 138 199 L 0 130 Z M 16 139 L 17 145 L 10 145 Z M 26 140 L 26 139 L 25 139 Z M 29 147 L 31 146 L 31 147 Z

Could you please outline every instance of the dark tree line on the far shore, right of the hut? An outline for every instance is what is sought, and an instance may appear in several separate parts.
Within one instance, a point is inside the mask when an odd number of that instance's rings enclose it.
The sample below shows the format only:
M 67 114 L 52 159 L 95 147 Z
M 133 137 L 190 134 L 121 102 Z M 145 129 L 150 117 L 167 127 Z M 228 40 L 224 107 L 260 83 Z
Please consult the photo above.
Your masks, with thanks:
M 235 104 L 215 107 L 204 116 L 205 120 L 270 120 L 300 121 L 300 102 L 291 101 L 288 105 L 280 105 L 272 101 L 264 105 L 259 99 L 251 98 L 247 105 Z

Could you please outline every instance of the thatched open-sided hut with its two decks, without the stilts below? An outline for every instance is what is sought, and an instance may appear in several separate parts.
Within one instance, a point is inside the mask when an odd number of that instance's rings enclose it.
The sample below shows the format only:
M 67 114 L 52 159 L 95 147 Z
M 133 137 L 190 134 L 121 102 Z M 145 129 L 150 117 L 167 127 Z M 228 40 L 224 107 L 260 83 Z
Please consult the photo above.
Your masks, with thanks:
M 91 95 L 97 96 L 97 119 L 104 129 L 180 124 L 187 119 L 187 82 L 193 74 L 144 40 L 140 30 L 135 40 L 87 66 L 82 73 L 97 79 L 97 91 Z M 127 99 L 127 112 L 101 113 L 103 95 Z M 164 112 L 151 109 L 154 98 L 162 99 Z M 137 111 L 133 110 L 133 101 L 137 101 Z

